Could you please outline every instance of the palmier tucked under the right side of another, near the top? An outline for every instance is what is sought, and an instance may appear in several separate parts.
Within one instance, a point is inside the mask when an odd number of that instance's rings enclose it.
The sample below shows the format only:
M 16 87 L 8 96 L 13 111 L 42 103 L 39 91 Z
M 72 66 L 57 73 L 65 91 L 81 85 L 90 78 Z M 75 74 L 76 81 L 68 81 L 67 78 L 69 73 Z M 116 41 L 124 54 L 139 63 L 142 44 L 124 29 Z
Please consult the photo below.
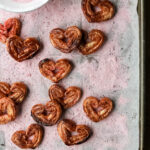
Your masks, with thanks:
M 93 29 L 88 33 L 88 35 L 86 34 L 86 32 L 83 32 L 83 38 L 78 49 L 83 55 L 89 55 L 96 52 L 103 43 L 103 32 L 97 29 Z

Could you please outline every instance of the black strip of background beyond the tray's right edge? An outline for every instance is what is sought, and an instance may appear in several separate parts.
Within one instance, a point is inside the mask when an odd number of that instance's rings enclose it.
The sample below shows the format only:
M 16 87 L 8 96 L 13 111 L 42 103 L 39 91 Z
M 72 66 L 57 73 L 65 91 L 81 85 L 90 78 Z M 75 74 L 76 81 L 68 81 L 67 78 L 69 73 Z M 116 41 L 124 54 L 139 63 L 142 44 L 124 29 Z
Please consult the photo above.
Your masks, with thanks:
M 145 130 L 144 150 L 150 150 L 150 0 L 145 2 Z

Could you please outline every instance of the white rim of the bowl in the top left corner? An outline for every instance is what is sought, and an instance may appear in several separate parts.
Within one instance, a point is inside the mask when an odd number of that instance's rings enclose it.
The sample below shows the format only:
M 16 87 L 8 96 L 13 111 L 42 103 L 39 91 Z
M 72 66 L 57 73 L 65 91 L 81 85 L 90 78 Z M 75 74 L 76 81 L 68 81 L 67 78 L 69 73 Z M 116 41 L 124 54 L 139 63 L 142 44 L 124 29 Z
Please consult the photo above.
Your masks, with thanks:
M 33 1 L 33 2 L 30 2 L 30 3 L 27 3 L 27 4 L 25 4 L 25 3 L 20 3 L 19 4 L 18 2 L 14 2 L 18 6 L 20 6 L 17 9 L 12 7 L 12 5 L 4 5 L 4 4 L 0 3 L 0 9 L 6 10 L 6 11 L 9 11 L 9 12 L 16 12 L 16 13 L 29 12 L 29 11 L 32 11 L 32 10 L 35 10 L 37 8 L 42 7 L 48 1 L 49 0 L 41 0 L 40 3 L 34 3 L 34 1 Z

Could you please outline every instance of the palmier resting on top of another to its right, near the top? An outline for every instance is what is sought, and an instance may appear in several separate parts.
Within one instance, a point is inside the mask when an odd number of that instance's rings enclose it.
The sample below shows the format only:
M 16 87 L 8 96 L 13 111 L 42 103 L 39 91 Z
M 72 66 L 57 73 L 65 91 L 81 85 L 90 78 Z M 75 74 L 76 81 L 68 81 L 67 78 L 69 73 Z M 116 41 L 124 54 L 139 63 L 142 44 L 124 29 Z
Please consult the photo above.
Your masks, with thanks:
M 82 33 L 76 26 L 68 27 L 66 30 L 56 28 L 50 32 L 52 45 L 63 53 L 70 53 L 76 49 L 81 38 Z

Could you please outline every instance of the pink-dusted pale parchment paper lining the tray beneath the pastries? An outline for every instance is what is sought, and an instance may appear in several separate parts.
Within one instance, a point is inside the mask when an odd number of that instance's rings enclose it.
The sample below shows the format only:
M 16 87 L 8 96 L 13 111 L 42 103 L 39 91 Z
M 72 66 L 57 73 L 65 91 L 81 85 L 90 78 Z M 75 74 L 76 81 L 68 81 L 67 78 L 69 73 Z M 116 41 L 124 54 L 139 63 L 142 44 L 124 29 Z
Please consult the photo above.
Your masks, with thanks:
M 45 150 L 137 150 L 139 148 L 139 23 L 137 0 L 112 0 L 117 13 L 112 20 L 88 23 L 81 11 L 81 0 L 51 0 L 44 7 L 26 14 L 0 11 L 0 20 L 19 17 L 22 21 L 21 36 L 38 37 L 44 47 L 34 58 L 15 62 L 0 44 L 0 80 L 13 83 L 25 82 L 30 93 L 21 106 L 15 121 L 0 126 L 1 149 L 18 150 L 10 140 L 11 135 L 33 123 L 30 111 L 33 105 L 49 100 L 48 89 L 52 83 L 44 78 L 38 63 L 43 58 L 68 58 L 74 63 L 71 74 L 60 82 L 64 87 L 79 86 L 83 89 L 81 101 L 68 109 L 63 118 L 78 124 L 87 124 L 92 137 L 81 145 L 67 147 L 57 133 L 57 126 L 45 127 L 45 136 L 37 149 Z M 69 15 L 68 15 L 69 14 Z M 49 42 L 53 28 L 76 25 L 84 30 L 102 30 L 107 36 L 104 46 L 96 53 L 82 56 L 78 51 L 63 54 Z M 110 97 L 114 111 L 99 123 L 91 122 L 82 109 L 87 96 Z

